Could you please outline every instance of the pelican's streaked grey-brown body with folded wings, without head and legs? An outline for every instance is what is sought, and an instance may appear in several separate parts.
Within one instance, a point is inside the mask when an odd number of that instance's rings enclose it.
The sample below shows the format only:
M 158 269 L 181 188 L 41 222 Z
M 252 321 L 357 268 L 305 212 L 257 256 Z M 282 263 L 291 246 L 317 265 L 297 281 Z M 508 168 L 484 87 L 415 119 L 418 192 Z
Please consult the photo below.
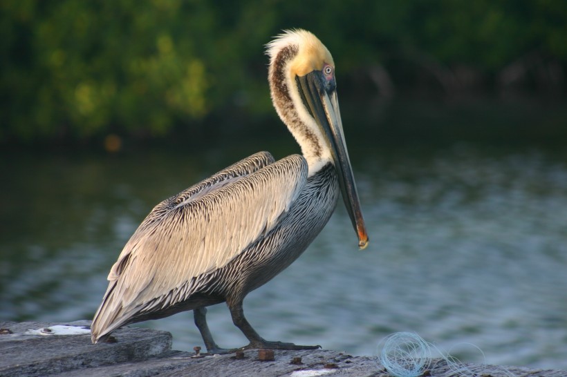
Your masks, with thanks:
M 243 299 L 288 267 L 330 218 L 332 164 L 257 153 L 158 204 L 109 273 L 93 340 L 123 325 Z M 163 273 L 167 271 L 167 273 Z

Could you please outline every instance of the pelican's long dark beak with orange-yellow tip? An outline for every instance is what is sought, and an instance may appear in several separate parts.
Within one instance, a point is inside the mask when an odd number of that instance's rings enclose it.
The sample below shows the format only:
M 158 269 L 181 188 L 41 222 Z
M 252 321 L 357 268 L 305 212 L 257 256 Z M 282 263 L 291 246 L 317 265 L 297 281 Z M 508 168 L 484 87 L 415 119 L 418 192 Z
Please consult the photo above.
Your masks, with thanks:
M 334 79 L 332 82 L 328 82 L 322 72 L 313 71 L 308 75 L 297 77 L 297 83 L 301 89 L 301 99 L 305 102 L 319 127 L 324 131 L 331 147 L 346 211 L 348 211 L 358 235 L 358 247 L 364 249 L 369 239 L 366 226 L 364 226 L 364 218 L 362 218 L 351 161 L 348 159 L 348 151 L 344 142 Z

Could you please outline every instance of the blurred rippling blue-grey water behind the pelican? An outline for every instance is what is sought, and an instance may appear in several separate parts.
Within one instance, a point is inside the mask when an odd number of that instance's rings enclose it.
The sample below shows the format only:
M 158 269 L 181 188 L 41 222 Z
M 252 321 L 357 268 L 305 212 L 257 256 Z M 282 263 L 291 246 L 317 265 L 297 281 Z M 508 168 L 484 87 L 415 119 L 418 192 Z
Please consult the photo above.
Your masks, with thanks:
M 148 211 L 255 151 L 3 160 L 0 318 L 90 319 Z M 261 336 L 376 355 L 414 331 L 463 361 L 567 368 L 567 153 L 351 147 L 351 159 L 371 244 L 357 250 L 341 201 L 246 298 Z M 208 318 L 221 347 L 245 345 L 225 305 Z M 142 325 L 171 331 L 176 349 L 202 342 L 192 313 Z

